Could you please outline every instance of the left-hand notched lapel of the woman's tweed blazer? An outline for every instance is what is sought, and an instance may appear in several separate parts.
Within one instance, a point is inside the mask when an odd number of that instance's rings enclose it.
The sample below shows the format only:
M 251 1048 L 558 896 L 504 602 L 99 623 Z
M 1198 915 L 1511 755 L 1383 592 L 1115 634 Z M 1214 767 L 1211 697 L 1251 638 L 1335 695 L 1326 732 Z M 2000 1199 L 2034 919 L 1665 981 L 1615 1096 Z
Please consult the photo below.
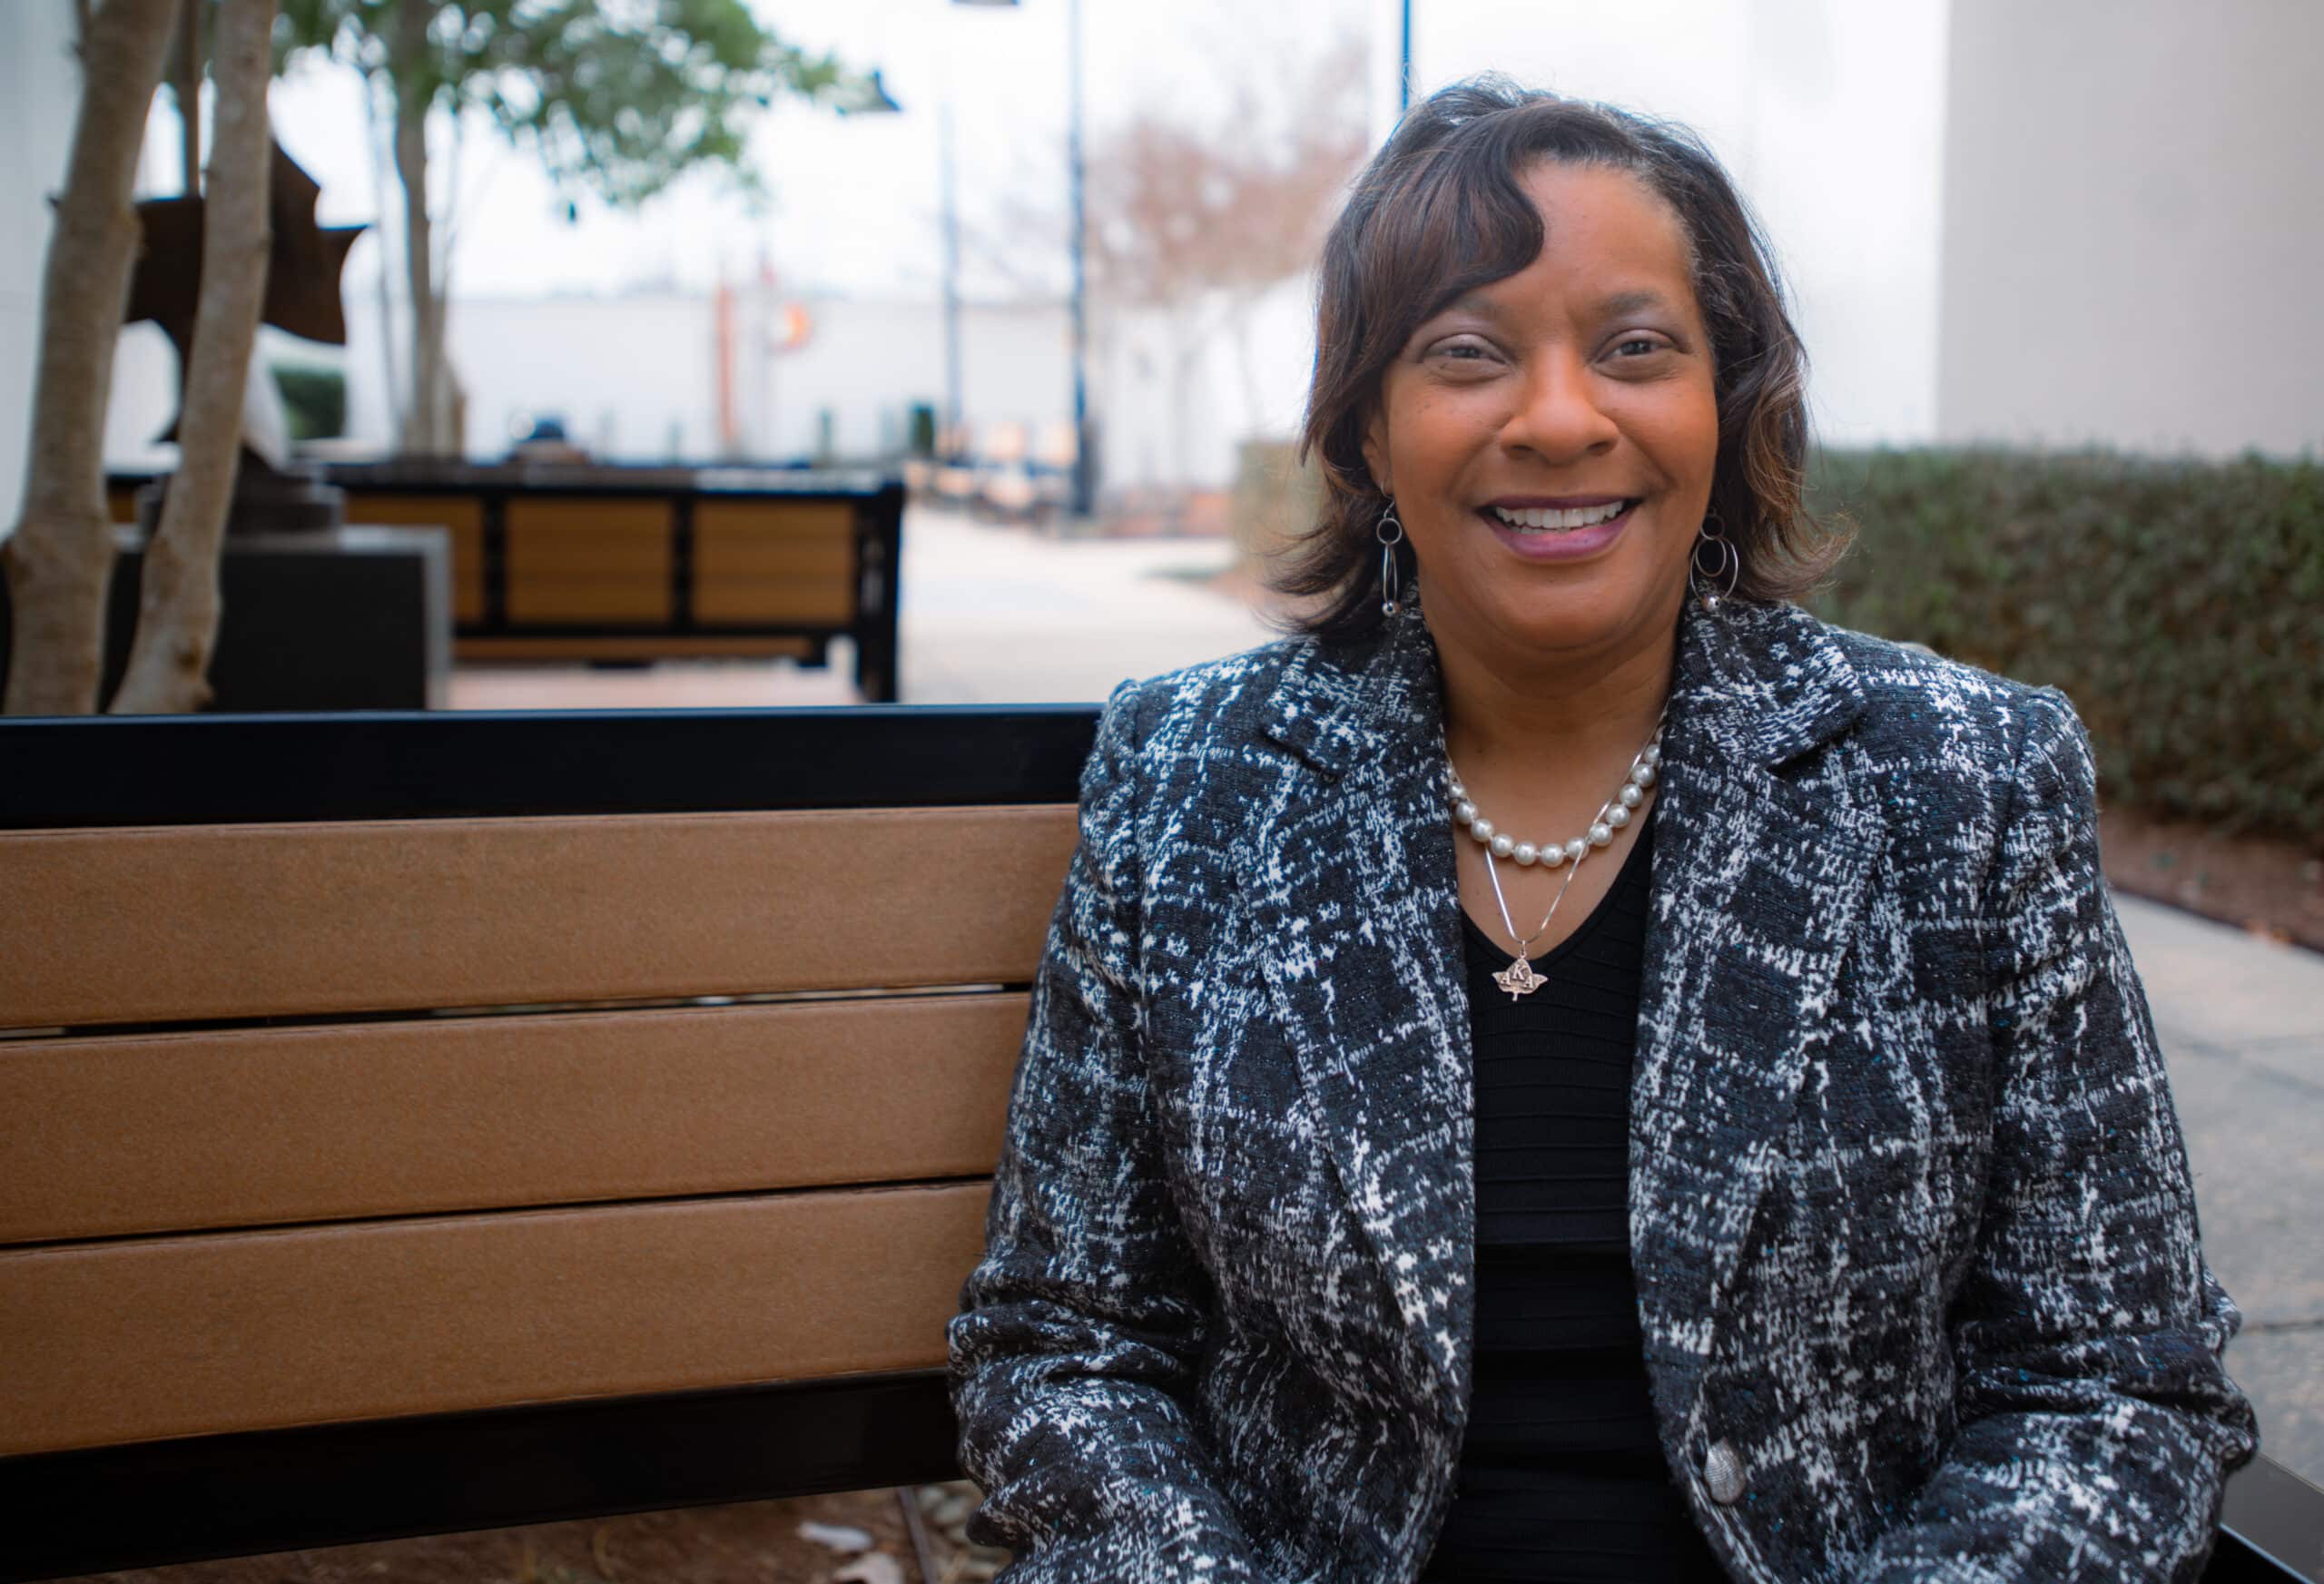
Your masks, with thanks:
M 1392 622 L 1369 655 L 1304 650 L 1264 732 L 1299 757 L 1246 878 L 1269 989 L 1394 1294 L 1406 1375 L 1441 1387 L 1457 1431 L 1476 1245 L 1469 1003 L 1427 629 Z

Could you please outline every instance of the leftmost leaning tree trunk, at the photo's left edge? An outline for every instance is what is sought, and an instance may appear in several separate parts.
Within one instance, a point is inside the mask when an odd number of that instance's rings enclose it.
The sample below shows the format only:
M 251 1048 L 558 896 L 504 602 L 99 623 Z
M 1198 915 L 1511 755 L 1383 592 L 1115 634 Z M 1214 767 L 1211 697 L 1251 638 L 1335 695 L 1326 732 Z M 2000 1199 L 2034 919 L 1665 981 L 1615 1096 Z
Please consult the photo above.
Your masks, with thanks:
M 128 304 L 130 186 L 177 0 L 105 0 L 81 33 L 81 107 L 40 283 L 40 365 L 23 509 L 0 546 L 14 604 L 5 708 L 86 715 L 105 674 L 105 402 Z

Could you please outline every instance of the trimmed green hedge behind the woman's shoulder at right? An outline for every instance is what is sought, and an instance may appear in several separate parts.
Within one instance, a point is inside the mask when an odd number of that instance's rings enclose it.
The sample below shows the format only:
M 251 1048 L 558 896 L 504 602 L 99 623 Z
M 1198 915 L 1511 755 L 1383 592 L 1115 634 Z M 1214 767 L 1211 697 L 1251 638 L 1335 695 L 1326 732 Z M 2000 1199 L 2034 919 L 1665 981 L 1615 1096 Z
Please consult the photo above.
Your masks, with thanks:
M 1808 504 L 1820 615 L 2064 687 L 2108 804 L 2324 852 L 2324 467 L 1827 451 Z

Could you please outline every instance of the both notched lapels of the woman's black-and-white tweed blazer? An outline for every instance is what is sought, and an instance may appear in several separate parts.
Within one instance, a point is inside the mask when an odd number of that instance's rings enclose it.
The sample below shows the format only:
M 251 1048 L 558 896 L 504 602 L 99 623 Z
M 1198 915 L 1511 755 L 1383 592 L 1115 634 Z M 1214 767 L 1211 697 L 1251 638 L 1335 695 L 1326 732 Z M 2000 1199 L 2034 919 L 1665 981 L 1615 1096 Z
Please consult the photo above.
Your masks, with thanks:
M 1864 685 L 1794 606 L 1680 615 L 1631 1085 L 1631 1252 L 1655 1396 L 1687 1421 L 1878 850 L 1845 776 L 1780 773 Z M 1436 646 L 1299 646 L 1262 718 L 1297 755 L 1246 887 L 1318 1131 L 1457 1445 L 1473 1338 L 1473 1092 Z

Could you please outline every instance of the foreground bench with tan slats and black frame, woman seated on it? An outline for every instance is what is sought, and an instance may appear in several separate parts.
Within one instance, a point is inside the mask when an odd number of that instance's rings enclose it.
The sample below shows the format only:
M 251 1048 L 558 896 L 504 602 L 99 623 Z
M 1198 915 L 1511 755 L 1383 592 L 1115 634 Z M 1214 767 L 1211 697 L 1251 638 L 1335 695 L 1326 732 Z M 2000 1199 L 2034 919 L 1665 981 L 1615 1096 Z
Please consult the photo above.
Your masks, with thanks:
M 1092 729 L 0 722 L 0 1584 L 957 1477 Z

